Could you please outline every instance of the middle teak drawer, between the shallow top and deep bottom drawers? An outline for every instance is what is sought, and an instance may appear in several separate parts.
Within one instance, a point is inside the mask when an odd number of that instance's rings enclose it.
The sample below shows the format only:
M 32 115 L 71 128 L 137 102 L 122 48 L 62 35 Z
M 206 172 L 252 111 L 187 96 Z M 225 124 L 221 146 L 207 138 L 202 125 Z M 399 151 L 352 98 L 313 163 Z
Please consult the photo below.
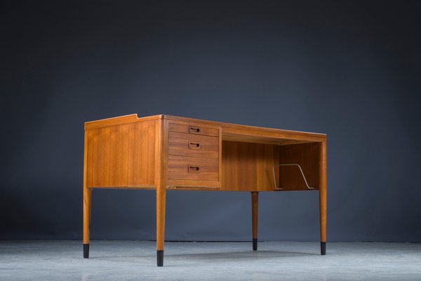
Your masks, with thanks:
M 191 133 L 168 133 L 168 155 L 218 158 L 219 138 Z

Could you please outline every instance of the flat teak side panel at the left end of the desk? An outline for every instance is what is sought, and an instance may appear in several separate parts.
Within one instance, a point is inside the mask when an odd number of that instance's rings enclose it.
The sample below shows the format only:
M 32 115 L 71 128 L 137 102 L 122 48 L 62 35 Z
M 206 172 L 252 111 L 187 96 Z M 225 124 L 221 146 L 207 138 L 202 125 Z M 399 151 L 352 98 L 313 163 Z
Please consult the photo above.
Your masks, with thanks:
M 155 122 L 86 130 L 86 186 L 154 188 Z

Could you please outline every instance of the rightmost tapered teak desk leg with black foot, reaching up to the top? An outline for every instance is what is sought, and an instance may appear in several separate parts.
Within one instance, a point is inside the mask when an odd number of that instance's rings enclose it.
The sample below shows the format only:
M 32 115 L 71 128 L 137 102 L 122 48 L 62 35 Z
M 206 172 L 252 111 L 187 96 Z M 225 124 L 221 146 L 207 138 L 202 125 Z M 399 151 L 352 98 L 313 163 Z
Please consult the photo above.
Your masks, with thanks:
M 326 142 L 321 143 L 319 155 L 319 209 L 320 209 L 320 251 L 326 255 L 326 205 L 327 205 L 327 168 Z

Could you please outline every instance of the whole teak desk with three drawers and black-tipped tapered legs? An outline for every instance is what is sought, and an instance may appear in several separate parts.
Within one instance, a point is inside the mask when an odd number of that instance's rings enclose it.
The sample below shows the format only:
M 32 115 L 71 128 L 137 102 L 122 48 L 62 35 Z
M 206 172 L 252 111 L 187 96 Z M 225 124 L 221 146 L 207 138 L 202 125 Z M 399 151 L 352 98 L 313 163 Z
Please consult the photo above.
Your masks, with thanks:
M 83 257 L 89 256 L 93 188 L 156 190 L 156 257 L 163 265 L 166 190 L 248 191 L 253 250 L 261 191 L 319 190 L 326 254 L 326 135 L 126 115 L 85 123 Z

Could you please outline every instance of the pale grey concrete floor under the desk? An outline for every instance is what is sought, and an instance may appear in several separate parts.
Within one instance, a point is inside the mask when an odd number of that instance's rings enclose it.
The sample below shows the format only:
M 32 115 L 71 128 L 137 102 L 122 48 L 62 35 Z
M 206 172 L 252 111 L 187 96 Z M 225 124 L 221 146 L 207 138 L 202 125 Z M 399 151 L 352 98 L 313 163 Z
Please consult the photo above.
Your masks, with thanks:
M 421 244 L 336 242 L 0 241 L 0 280 L 421 280 Z

